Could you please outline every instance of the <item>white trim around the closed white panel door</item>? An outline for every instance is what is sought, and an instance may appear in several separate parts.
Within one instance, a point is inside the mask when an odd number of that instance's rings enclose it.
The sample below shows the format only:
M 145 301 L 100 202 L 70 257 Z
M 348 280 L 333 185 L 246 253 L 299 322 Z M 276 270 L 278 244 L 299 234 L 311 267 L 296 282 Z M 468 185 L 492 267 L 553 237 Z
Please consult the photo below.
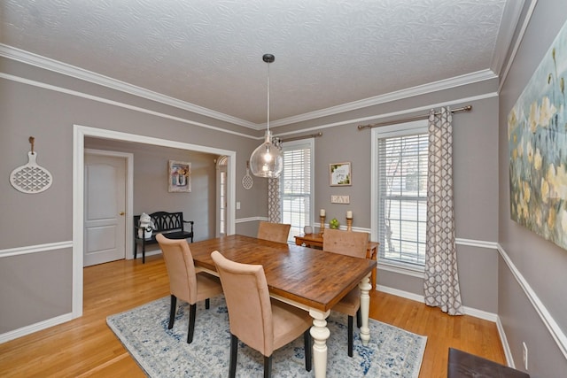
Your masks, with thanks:
M 126 249 L 125 258 L 134 258 L 134 154 L 129 152 L 120 152 L 112 150 L 95 150 L 95 149 L 85 149 L 85 154 L 98 155 L 98 156 L 109 156 L 113 158 L 125 158 L 126 159 L 126 244 L 124 248 Z M 83 155 L 84 156 L 84 155 Z M 83 172 L 84 172 L 84 162 L 83 162 Z M 83 214 L 84 215 L 84 214 Z M 84 220 L 83 220 L 84 222 Z M 84 227 L 84 224 L 83 224 Z

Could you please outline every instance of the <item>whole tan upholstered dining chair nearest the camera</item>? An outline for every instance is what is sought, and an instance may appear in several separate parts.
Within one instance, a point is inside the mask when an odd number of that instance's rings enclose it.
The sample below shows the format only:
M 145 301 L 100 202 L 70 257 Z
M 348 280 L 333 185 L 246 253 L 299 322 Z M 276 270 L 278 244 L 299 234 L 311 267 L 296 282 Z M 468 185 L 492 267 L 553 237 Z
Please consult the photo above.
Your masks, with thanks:
M 303 334 L 305 368 L 311 371 L 312 319 L 308 312 L 269 297 L 261 265 L 240 264 L 219 251 L 211 254 L 229 309 L 229 377 L 237 374 L 238 340 L 264 356 L 264 377 L 272 371 L 272 353 Z

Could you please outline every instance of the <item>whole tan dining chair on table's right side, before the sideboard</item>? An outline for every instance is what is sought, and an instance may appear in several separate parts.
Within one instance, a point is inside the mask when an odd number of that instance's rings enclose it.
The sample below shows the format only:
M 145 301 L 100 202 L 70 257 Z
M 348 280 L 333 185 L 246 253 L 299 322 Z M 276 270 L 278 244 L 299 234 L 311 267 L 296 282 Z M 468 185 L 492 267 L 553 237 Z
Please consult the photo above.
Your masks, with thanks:
M 340 253 L 355 258 L 366 258 L 369 243 L 369 233 L 325 229 L 322 238 L 323 251 Z M 348 356 L 353 357 L 353 316 L 356 315 L 356 326 L 361 327 L 361 289 L 356 287 L 343 297 L 334 311 L 348 316 Z

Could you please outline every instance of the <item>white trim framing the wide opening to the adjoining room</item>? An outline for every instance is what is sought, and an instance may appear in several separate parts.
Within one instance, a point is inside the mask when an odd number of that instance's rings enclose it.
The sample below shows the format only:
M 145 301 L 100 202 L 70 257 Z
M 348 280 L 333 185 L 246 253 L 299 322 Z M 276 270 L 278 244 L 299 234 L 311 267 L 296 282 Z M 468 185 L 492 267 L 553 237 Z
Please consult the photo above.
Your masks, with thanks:
M 73 125 L 73 318 L 82 316 L 82 246 L 84 228 L 84 150 L 85 137 L 94 136 L 99 138 L 144 143 L 163 147 L 177 148 L 182 150 L 195 150 L 215 155 L 226 155 L 229 157 L 228 175 L 229 189 L 227 193 L 227 235 L 235 233 L 235 198 L 236 198 L 236 157 L 237 152 L 233 150 L 222 150 L 213 147 L 199 146 L 197 144 L 171 141 L 151 136 L 122 133 L 120 131 L 105 130 L 103 128 Z M 130 227 L 130 229 L 132 229 Z

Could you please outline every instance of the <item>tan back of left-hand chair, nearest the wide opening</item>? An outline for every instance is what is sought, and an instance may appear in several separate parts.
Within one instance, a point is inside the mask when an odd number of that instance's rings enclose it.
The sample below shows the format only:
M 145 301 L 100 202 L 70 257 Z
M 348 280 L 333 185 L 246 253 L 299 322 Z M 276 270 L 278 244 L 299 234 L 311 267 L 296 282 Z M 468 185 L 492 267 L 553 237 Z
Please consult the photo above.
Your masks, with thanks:
M 189 243 L 185 239 L 167 239 L 163 234 L 156 235 L 156 240 L 166 262 L 169 291 L 190 305 L 195 304 L 197 302 L 197 275 Z

